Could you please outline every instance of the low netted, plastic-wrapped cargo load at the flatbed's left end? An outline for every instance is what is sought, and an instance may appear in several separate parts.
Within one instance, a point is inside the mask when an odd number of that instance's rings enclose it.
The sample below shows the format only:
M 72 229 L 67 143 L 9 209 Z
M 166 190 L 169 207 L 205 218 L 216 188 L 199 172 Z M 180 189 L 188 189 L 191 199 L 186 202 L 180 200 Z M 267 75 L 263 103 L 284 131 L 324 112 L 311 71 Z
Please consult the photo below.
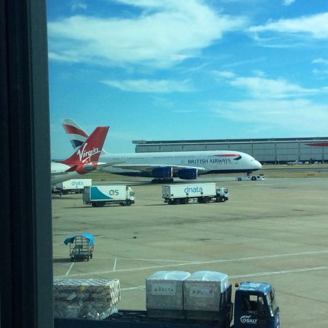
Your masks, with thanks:
M 54 279 L 55 318 L 102 320 L 120 301 L 118 279 Z

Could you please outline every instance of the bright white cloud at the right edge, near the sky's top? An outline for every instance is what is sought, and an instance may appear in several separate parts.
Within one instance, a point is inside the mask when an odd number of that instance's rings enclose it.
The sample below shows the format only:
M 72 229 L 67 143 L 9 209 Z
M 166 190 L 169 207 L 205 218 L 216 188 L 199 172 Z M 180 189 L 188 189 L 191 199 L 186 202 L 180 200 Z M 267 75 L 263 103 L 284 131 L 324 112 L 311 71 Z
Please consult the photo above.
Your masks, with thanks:
M 289 37 L 308 35 L 314 39 L 323 40 L 328 38 L 328 12 L 299 18 L 280 19 L 275 22 L 269 21 L 265 25 L 249 27 L 248 31 L 253 33 L 254 39 L 259 42 L 262 41 L 261 33 L 264 36 L 269 33 L 268 40 L 264 39 L 268 42 L 275 42 L 274 33 L 286 34 Z

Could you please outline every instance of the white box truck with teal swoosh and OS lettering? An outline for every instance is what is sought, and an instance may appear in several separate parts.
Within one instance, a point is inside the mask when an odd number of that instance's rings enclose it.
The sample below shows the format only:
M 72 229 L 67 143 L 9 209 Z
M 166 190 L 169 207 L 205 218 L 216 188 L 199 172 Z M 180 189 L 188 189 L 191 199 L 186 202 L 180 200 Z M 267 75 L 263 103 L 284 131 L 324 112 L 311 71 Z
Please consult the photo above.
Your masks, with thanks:
M 83 204 L 102 207 L 105 204 L 130 206 L 135 203 L 135 192 L 124 184 L 90 186 L 83 189 Z

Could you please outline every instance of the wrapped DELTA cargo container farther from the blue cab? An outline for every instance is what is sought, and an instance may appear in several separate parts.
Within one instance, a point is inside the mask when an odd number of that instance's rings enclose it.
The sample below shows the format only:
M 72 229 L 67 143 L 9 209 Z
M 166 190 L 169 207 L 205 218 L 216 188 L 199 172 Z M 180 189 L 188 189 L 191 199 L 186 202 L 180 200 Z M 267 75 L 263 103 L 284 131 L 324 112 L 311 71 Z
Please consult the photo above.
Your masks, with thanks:
M 183 281 L 186 271 L 157 271 L 146 279 L 146 308 L 152 318 L 184 318 Z

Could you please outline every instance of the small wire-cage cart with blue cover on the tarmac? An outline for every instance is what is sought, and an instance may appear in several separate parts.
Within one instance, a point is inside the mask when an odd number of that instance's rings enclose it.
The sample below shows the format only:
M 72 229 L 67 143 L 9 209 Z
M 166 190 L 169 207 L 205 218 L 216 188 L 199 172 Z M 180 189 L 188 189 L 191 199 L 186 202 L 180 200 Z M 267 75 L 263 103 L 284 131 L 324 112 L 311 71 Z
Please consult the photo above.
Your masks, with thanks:
M 77 234 L 65 239 L 65 245 L 70 244 L 70 260 L 89 260 L 94 251 L 94 236 L 92 234 Z

